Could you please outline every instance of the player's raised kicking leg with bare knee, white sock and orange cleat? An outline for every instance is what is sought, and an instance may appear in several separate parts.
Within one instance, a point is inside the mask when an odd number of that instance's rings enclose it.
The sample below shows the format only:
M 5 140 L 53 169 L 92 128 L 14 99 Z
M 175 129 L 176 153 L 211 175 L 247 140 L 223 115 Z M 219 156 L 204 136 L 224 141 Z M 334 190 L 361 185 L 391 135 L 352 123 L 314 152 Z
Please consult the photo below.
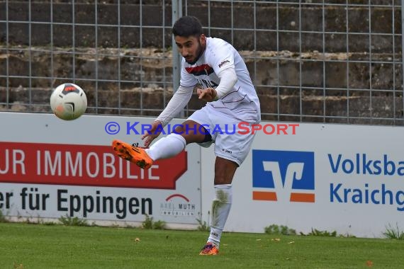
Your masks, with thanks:
M 137 164 L 140 168 L 150 168 L 153 161 L 176 156 L 185 149 L 186 144 L 206 142 L 209 139 L 211 139 L 211 135 L 202 125 L 193 120 L 186 120 L 182 125 L 176 127 L 175 132 L 157 140 L 149 149 L 114 140 L 113 150 L 118 156 Z

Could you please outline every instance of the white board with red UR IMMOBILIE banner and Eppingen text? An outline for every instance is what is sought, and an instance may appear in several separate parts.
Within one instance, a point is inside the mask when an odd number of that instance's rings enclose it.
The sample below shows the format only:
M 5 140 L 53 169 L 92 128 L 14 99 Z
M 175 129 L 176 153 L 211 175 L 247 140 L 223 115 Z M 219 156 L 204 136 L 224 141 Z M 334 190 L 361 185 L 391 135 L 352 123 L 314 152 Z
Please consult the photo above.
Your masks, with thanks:
M 0 122 L 3 214 L 110 222 L 143 222 L 147 214 L 167 224 L 198 224 L 197 145 L 146 171 L 113 154 L 113 139 L 141 144 L 152 118 L 84 115 L 63 121 L 51 114 L 0 113 Z

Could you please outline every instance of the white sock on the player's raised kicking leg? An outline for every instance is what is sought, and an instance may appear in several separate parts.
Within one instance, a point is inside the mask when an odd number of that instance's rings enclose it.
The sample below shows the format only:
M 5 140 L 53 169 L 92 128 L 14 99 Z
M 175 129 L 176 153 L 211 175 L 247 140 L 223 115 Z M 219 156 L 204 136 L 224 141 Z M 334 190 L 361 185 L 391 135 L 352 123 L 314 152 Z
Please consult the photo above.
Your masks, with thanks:
M 169 134 L 167 137 L 157 140 L 155 144 L 152 144 L 152 147 L 145 149 L 145 151 L 153 161 L 156 161 L 176 156 L 176 154 L 185 149 L 185 146 L 186 141 L 184 137 L 178 134 Z

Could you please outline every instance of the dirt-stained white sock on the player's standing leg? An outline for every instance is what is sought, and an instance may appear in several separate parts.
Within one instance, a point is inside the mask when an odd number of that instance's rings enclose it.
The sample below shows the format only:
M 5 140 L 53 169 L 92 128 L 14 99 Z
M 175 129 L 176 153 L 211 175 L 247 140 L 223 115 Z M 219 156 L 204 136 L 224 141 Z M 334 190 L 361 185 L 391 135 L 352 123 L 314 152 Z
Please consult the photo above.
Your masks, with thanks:
M 219 248 L 220 236 L 232 207 L 232 185 L 215 185 L 215 200 L 212 202 L 211 234 L 208 242 Z

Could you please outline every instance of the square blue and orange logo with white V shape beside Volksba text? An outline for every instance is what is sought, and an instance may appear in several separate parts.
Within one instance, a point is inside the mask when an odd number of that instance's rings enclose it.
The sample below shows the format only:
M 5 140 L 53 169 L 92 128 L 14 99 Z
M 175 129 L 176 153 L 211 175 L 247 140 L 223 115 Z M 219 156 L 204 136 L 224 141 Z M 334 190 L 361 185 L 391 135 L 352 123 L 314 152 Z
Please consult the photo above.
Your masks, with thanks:
M 315 202 L 314 152 L 252 151 L 252 200 Z

